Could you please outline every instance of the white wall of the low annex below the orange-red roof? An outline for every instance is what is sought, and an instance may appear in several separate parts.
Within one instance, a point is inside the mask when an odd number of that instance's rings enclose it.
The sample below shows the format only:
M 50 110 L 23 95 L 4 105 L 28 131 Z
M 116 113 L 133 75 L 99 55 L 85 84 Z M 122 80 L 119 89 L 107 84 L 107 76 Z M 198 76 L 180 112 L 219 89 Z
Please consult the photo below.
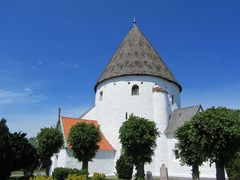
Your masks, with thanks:
M 114 151 L 101 151 L 99 150 L 96 156 L 88 164 L 89 174 L 92 175 L 94 172 L 104 173 L 106 175 L 114 175 Z M 52 167 L 53 171 L 56 167 L 65 168 L 82 168 L 82 163 L 73 157 L 73 153 L 69 149 L 61 149 L 60 152 L 52 157 Z M 52 172 L 51 172 L 52 173 Z

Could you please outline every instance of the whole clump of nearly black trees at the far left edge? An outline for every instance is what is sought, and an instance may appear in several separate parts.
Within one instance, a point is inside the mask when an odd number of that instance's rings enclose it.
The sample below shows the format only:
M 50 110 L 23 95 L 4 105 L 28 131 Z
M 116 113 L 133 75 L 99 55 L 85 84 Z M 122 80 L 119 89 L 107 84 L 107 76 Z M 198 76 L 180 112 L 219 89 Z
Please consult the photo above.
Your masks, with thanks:
M 24 173 L 32 173 L 37 160 L 36 149 L 28 142 L 26 133 L 10 133 L 6 120 L 2 119 L 0 121 L 0 179 L 8 178 L 11 171 L 19 169 L 24 169 Z

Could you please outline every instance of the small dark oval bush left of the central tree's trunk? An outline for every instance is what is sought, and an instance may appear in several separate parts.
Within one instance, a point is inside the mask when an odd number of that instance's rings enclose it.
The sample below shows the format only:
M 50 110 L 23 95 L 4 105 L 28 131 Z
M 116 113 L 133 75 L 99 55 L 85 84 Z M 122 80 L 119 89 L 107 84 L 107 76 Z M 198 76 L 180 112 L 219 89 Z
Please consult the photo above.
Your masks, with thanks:
M 117 160 L 116 170 L 119 179 L 132 179 L 133 164 L 125 155 L 121 155 Z

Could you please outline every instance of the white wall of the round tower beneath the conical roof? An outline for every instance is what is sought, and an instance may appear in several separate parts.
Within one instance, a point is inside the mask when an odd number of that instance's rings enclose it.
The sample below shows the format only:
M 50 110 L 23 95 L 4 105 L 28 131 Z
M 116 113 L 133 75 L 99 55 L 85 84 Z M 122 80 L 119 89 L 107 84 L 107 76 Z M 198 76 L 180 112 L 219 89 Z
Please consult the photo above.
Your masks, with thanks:
M 139 86 L 138 96 L 131 95 L 133 85 Z M 160 95 L 159 98 L 155 97 L 153 93 L 153 87 L 155 86 L 165 89 L 168 95 L 164 95 L 163 97 Z M 172 95 L 174 97 L 173 105 L 170 103 Z M 163 131 L 164 128 L 162 126 L 163 124 L 166 126 L 169 114 L 173 109 L 180 108 L 180 106 L 178 86 L 153 76 L 131 75 L 116 77 L 101 83 L 96 90 L 96 119 L 101 125 L 104 135 L 117 150 L 115 161 L 120 155 L 119 128 L 126 121 L 126 113 L 128 117 L 133 113 L 134 115 L 154 120 Z M 161 147 L 160 144 L 162 143 L 167 143 L 165 137 L 162 137 L 161 141 L 159 139 L 158 147 Z M 156 152 L 158 151 L 159 149 Z M 166 154 L 167 149 L 162 148 L 161 152 Z M 165 155 L 156 153 L 156 160 L 149 166 L 156 173 L 159 173 L 159 163 L 162 157 L 164 157 L 162 161 L 167 162 Z

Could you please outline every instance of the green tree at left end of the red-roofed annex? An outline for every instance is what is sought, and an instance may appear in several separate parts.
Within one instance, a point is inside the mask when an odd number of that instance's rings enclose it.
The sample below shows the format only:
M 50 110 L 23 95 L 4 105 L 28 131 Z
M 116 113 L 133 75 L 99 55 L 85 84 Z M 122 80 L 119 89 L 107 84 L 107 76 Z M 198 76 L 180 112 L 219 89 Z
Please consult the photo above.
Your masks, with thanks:
M 46 174 L 49 175 L 49 169 L 52 164 L 51 157 L 57 153 L 63 145 L 63 136 L 58 129 L 43 128 L 37 134 L 37 153 L 43 167 L 46 167 Z

